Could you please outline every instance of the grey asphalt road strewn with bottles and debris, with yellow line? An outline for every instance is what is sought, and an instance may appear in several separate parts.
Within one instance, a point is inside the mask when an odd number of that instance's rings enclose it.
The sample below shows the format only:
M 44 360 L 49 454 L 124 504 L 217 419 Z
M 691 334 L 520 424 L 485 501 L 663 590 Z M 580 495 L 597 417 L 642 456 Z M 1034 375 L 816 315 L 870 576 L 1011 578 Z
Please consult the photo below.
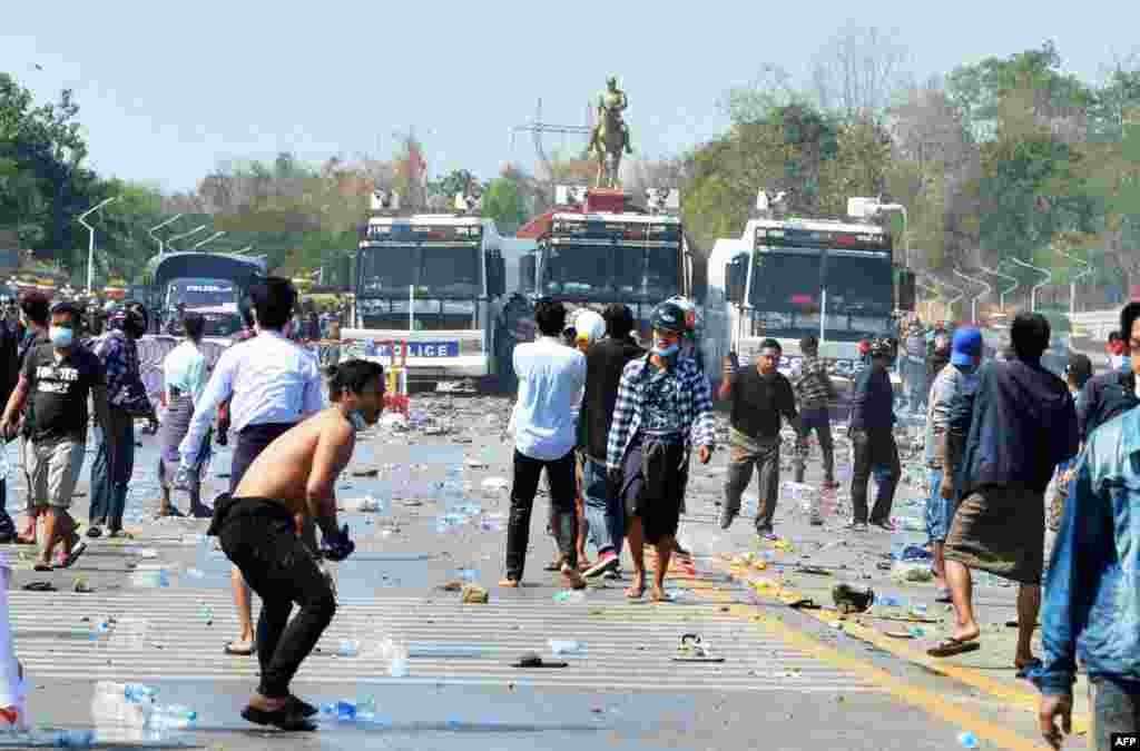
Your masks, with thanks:
M 33 720 L 44 728 L 93 728 L 95 683 L 117 680 L 152 685 L 160 703 L 193 708 L 195 729 L 174 741 L 219 751 L 475 745 L 881 751 L 963 748 L 963 732 L 979 737 L 978 748 L 1040 748 L 1032 715 L 979 689 L 966 674 L 956 679 L 901 659 L 758 597 L 739 572 L 730 578 L 733 554 L 763 554 L 772 544 L 755 538 L 751 520 L 738 520 L 728 532 L 716 526 L 724 451 L 709 467 L 694 467 L 682 538 L 694 553 L 697 573 L 670 580 L 676 602 L 626 602 L 628 581 L 592 587 L 581 602 L 556 602 L 561 586 L 542 570 L 553 550 L 544 534 L 544 497 L 536 501 L 527 586 L 497 589 L 505 547 L 499 525 L 510 501 L 506 491 L 483 491 L 481 483 L 510 479 L 511 447 L 500 440 L 508 405 L 440 397 L 420 397 L 417 405 L 443 427 L 429 427 L 427 434 L 377 431 L 361 443 L 348 475 L 378 468 L 381 476 L 345 476 L 339 487 L 342 500 L 373 496 L 386 501 L 386 509 L 348 514 L 358 552 L 335 566 L 337 614 L 294 683 L 295 693 L 314 703 L 370 697 L 372 721 L 326 718 L 315 734 L 283 734 L 239 717 L 256 684 L 256 661 L 222 654 L 236 635 L 228 563 L 212 549 L 212 539 L 199 538 L 205 522 L 149 521 L 157 507 L 152 436 L 140 439 L 131 487 L 132 508 L 145 520 L 128 524 L 136 539 L 97 540 L 73 570 L 50 574 L 32 572 L 30 554 L 7 550 L 17 558 L 9 614 L 33 688 Z M 225 475 L 227 465 L 222 451 L 212 466 L 214 490 L 222 489 L 226 480 L 217 475 Z M 446 484 L 457 479 L 457 467 L 464 490 Z M 81 493 L 87 476 L 84 468 Z M 22 484 L 9 480 L 9 508 L 19 507 L 13 496 Z M 22 498 L 23 489 L 18 492 Z M 912 513 L 906 499 L 917 496 L 915 489 L 901 489 L 899 513 Z M 85 513 L 85 500 L 76 498 L 76 513 Z M 473 505 L 478 515 L 466 523 L 441 522 L 449 506 L 451 513 L 463 506 L 473 513 Z M 809 528 L 793 503 L 782 505 L 777 531 L 795 552 L 776 552 L 766 573 L 782 570 L 788 586 L 822 586 L 820 598 L 839 579 L 906 596 L 904 587 L 890 589 L 874 562 L 922 536 L 850 540 L 839 531 L 842 501 L 825 513 L 824 528 Z M 805 556 L 833 576 L 822 583 L 797 577 L 795 564 Z M 140 568 L 154 565 L 166 571 L 169 586 L 141 586 Z M 624 569 L 629 570 L 628 558 Z M 463 576 L 490 590 L 488 604 L 464 605 L 458 593 L 440 589 Z M 71 591 L 78 579 L 93 591 Z M 23 591 L 31 581 L 50 581 L 59 591 Z M 915 601 L 931 594 L 928 585 L 910 593 Z M 1001 621 L 1012 612 L 1011 589 L 983 586 L 979 599 L 990 603 L 987 619 Z M 108 617 L 119 621 L 116 628 L 92 639 L 92 625 Z M 131 619 L 142 621 L 133 638 L 123 627 Z M 674 662 L 687 632 L 700 634 L 725 661 Z M 984 652 L 999 677 L 1011 672 L 1004 664 L 1012 658 L 1008 636 L 995 631 L 993 648 L 987 642 Z M 386 637 L 408 648 L 405 677 L 389 675 L 378 650 Z M 552 658 L 549 639 L 579 642 L 579 654 L 561 658 L 568 668 L 511 667 L 527 651 Z M 342 640 L 359 643 L 356 656 L 337 654 Z M 128 744 L 105 736 L 104 745 Z

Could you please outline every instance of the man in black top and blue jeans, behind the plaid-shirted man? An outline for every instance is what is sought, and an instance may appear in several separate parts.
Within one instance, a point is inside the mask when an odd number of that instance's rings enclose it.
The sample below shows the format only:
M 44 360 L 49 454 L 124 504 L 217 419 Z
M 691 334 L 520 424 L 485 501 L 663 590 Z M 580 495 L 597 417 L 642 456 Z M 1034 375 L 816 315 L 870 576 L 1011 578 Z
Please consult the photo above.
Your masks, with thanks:
M 585 571 L 587 578 L 610 574 L 618 569 L 625 541 L 626 514 L 621 499 L 611 496 L 605 481 L 605 442 L 618 401 L 618 384 L 626 364 L 645 354 L 629 335 L 634 315 L 613 303 L 603 311 L 605 338 L 586 352 L 586 393 L 578 419 L 578 450 L 583 457 L 583 496 L 589 536 L 597 561 Z

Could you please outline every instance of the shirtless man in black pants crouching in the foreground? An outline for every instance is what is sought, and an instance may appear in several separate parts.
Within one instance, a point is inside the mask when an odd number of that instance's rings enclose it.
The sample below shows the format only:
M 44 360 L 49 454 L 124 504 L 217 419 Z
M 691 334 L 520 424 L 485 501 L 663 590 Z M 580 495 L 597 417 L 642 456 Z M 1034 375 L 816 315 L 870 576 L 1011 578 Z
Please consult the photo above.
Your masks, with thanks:
M 324 557 L 352 554 L 348 525 L 336 526 L 336 477 L 356 446 L 356 431 L 375 425 L 384 405 L 384 372 L 375 362 L 349 360 L 328 368 L 333 406 L 270 443 L 253 462 L 234 498 L 214 506 L 210 534 L 261 597 L 258 660 L 261 685 L 242 711 L 258 725 L 315 730 L 316 708 L 290 693 L 288 684 L 336 611 L 329 581 L 298 537 L 294 515 L 320 528 Z M 293 604 L 300 606 L 290 621 Z

